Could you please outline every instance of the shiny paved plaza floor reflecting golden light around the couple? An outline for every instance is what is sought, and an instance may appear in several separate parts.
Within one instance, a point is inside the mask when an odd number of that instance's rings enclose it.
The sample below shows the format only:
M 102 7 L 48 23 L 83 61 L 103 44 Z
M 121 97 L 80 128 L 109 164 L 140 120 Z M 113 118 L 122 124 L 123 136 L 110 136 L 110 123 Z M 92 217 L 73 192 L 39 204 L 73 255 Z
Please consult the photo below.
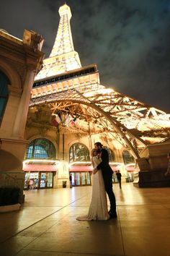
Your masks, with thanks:
M 21 210 L 0 214 L 0 255 L 169 256 L 170 187 L 114 191 L 118 218 L 89 222 L 76 216 L 87 213 L 91 187 L 26 191 Z

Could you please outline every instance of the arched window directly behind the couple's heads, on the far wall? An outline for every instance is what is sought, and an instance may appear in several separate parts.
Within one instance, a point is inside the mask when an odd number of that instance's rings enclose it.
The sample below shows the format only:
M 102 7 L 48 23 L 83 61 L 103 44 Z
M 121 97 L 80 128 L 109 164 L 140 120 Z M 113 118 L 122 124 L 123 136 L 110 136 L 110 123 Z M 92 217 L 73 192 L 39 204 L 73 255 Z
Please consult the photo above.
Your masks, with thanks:
M 69 160 L 70 162 L 90 161 L 88 148 L 80 143 L 73 144 L 69 150 Z

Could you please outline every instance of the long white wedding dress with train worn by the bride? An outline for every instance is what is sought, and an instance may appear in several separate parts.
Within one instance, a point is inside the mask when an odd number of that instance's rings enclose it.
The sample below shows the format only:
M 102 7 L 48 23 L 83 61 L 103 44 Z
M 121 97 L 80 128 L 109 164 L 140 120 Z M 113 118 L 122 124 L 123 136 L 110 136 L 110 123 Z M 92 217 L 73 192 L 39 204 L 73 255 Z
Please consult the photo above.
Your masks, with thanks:
M 94 168 L 99 165 L 101 160 L 96 156 L 93 157 Z M 102 171 L 97 171 L 96 174 L 92 174 L 92 195 L 89 212 L 86 216 L 79 216 L 76 219 L 78 221 L 106 221 L 109 219 L 109 213 L 107 210 L 107 196 L 104 188 L 104 180 L 102 177 Z

